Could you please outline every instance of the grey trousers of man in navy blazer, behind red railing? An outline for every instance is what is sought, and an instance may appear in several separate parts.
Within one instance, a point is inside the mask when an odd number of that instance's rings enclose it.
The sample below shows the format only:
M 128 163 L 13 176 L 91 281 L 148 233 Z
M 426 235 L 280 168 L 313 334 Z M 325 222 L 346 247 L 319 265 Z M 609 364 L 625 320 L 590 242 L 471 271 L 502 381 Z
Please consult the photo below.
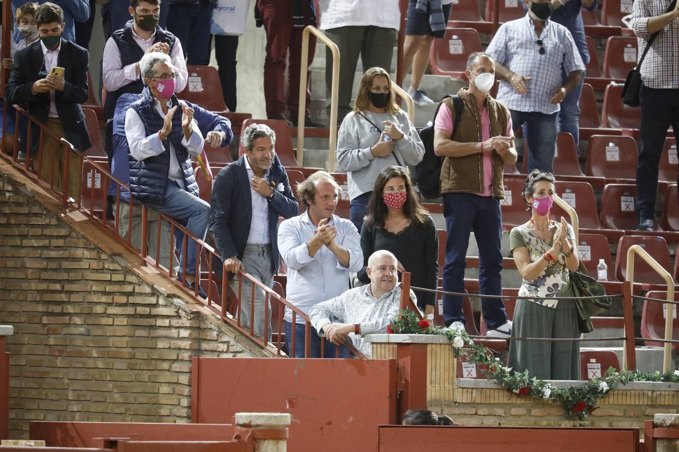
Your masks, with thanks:
M 248 243 L 245 245 L 243 258 L 240 260 L 243 265 L 243 270 L 249 273 L 253 278 L 261 281 L 266 287 L 274 285 L 274 259 L 271 245 L 262 245 L 259 243 Z M 229 285 L 238 296 L 239 278 L 236 276 L 229 281 Z M 247 279 L 242 279 L 240 289 L 240 323 L 246 328 L 250 327 L 251 321 L 251 301 L 252 301 L 253 283 Z M 271 342 L 271 304 L 269 304 L 268 319 L 264 319 L 265 293 L 260 288 L 255 286 L 255 321 L 254 331 L 259 337 L 264 337 L 264 322 L 268 323 L 267 338 Z M 236 316 L 238 319 L 238 316 Z

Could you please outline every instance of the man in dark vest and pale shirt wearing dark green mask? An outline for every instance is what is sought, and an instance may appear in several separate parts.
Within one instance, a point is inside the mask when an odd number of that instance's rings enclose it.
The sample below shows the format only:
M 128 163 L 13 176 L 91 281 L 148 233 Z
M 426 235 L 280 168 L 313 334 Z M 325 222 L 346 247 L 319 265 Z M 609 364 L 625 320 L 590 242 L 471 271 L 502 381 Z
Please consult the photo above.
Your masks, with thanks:
M 130 20 L 124 28 L 113 32 L 104 47 L 102 78 L 107 91 L 104 104 L 106 119 L 106 152 L 113 155 L 113 112 L 115 102 L 125 93 L 141 94 L 144 89 L 139 76 L 139 61 L 150 52 L 169 55 L 177 70 L 175 91 L 186 86 L 188 73 L 179 39 L 158 26 L 160 0 L 130 0 Z

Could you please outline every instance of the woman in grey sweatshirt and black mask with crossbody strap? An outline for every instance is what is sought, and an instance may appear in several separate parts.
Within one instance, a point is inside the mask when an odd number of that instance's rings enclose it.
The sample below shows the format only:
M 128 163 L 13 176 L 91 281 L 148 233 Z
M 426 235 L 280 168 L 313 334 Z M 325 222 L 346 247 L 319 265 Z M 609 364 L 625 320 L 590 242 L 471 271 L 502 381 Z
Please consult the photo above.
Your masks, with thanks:
M 361 230 L 375 178 L 390 165 L 417 165 L 424 145 L 406 112 L 394 101 L 391 79 L 382 68 L 363 74 L 354 111 L 337 136 L 337 167 L 348 174 L 351 220 Z

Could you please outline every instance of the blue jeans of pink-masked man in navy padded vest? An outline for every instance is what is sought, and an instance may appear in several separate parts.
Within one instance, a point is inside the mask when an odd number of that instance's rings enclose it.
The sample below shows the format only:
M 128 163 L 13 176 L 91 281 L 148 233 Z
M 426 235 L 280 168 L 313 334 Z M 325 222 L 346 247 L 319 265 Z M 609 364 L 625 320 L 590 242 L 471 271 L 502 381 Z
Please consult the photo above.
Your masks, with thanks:
M 164 205 L 152 204 L 147 205 L 147 207 L 176 220 L 191 234 L 205 240 L 208 220 L 210 220 L 210 205 L 183 188 L 179 188 L 177 182 L 168 181 Z M 177 241 L 177 246 L 181 246 L 181 240 Z M 179 252 L 181 253 L 181 251 L 182 248 L 180 247 Z M 197 274 L 196 271 L 200 271 L 200 268 L 196 268 L 196 255 L 196 241 L 189 240 L 186 245 L 186 255 L 181 253 L 179 257 L 180 274 L 183 272 L 184 259 L 186 259 L 186 274 Z

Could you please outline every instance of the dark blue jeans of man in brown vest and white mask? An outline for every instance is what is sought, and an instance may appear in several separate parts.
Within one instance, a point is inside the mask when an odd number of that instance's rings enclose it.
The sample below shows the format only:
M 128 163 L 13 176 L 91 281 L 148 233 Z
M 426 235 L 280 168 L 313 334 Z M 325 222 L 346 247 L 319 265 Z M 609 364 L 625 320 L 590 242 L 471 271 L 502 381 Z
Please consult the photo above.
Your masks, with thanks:
M 500 201 L 473 193 L 443 195 L 443 215 L 448 238 L 445 242 L 443 290 L 464 292 L 464 268 L 469 233 L 474 232 L 479 246 L 479 288 L 484 295 L 502 295 L 502 211 Z M 494 329 L 507 322 L 504 303 L 481 297 L 485 326 Z M 462 297 L 443 295 L 443 320 L 466 323 L 462 313 Z

